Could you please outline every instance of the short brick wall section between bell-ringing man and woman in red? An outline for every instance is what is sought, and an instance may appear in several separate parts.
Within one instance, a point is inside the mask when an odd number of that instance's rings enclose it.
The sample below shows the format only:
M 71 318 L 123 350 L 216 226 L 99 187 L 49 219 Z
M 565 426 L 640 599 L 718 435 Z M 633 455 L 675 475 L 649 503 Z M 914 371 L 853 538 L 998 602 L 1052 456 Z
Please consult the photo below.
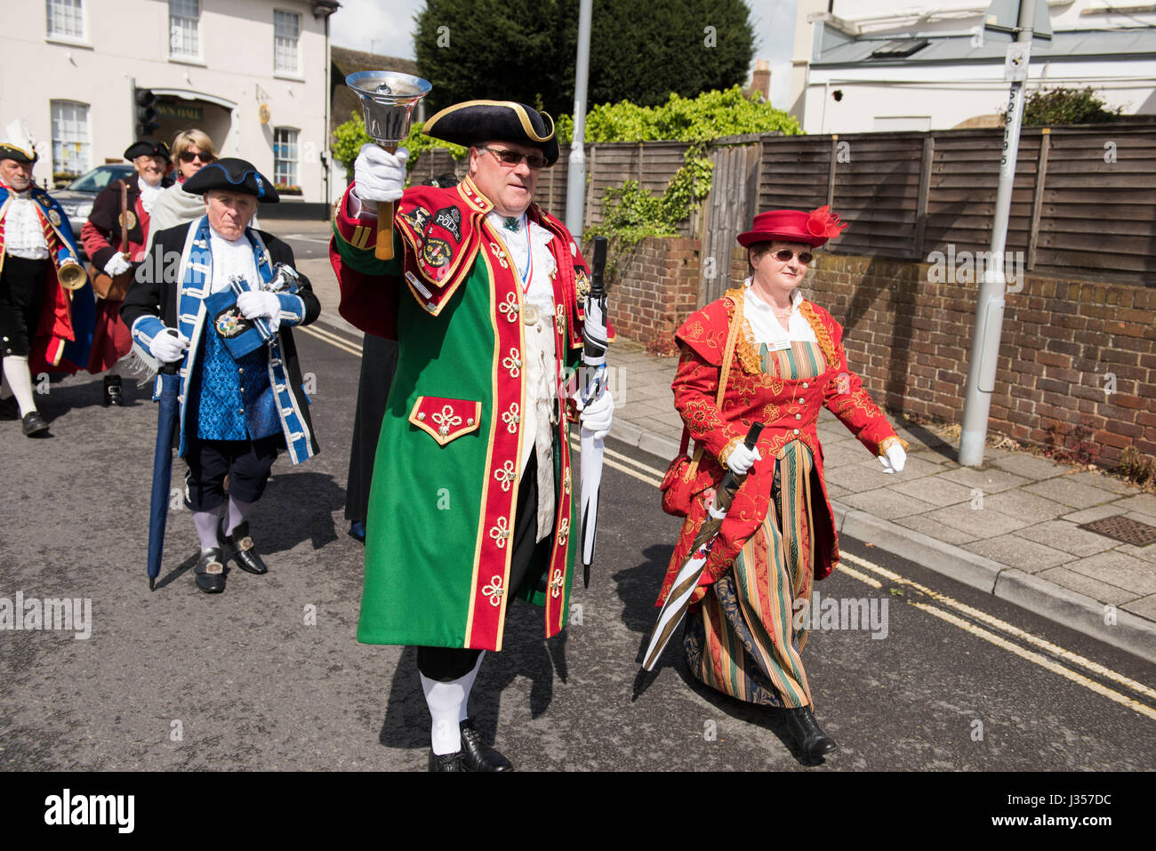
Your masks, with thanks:
M 650 237 L 617 260 L 607 281 L 607 311 L 615 332 L 669 348 L 674 332 L 698 301 L 697 239 Z M 587 245 L 584 256 L 591 257 Z

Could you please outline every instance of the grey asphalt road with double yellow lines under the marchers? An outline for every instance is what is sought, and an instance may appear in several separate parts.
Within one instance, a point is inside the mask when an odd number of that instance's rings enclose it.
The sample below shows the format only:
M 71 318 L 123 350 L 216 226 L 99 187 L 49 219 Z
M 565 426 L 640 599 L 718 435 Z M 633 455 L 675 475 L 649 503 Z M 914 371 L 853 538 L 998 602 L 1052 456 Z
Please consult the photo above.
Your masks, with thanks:
M 297 341 L 323 451 L 277 461 L 252 518 L 271 572 L 234 569 L 221 595 L 193 584 L 184 508 L 148 591 L 156 414 L 143 390 L 118 410 L 101 407 L 99 379 L 52 385 L 40 397 L 51 439 L 0 422 L 0 598 L 91 600 L 87 639 L 0 631 L 0 769 L 424 769 L 413 651 L 355 641 L 362 548 L 342 509 L 360 341 L 324 326 Z M 632 700 L 679 520 L 658 509 L 665 460 L 609 449 L 580 616 L 546 642 L 541 612 L 513 605 L 506 650 L 488 654 L 474 689 L 479 726 L 519 769 L 1154 768 L 1154 666 L 850 539 L 857 575 L 816 587 L 874 599 L 880 617 L 885 601 L 887 617 L 813 631 L 803 651 L 816 715 L 839 742 L 824 763 L 792 755 L 773 713 L 698 686 L 675 646 Z

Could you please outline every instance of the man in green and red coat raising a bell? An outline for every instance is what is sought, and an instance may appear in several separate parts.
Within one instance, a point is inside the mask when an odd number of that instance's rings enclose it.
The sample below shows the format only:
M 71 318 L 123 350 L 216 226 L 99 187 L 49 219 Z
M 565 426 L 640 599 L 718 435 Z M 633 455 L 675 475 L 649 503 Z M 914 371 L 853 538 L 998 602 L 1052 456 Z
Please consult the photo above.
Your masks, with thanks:
M 469 148 L 451 188 L 402 191 L 407 153 L 366 145 L 329 246 L 341 314 L 399 343 L 365 523 L 358 641 L 417 646 L 430 770 L 511 768 L 469 720 L 486 650 L 513 597 L 566 622 L 578 535 L 569 430 L 605 435 L 609 393 L 573 401 L 590 275 L 573 237 L 532 202 L 558 157 L 554 121 L 469 101 L 430 118 Z M 394 258 L 375 256 L 377 204 L 397 201 Z

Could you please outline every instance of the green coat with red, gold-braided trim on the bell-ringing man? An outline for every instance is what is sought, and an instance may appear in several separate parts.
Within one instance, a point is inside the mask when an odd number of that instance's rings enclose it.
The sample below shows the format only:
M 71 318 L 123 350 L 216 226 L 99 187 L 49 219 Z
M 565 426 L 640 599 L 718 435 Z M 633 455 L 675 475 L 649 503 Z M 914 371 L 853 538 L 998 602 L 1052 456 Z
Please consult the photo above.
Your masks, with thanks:
M 556 506 L 548 561 L 509 587 L 527 412 L 523 290 L 469 178 L 414 186 L 398 201 L 394 259 L 375 258 L 376 220 L 334 210 L 329 258 L 340 312 L 366 333 L 395 339 L 398 368 L 378 443 L 365 530 L 357 639 L 501 650 L 505 610 L 520 593 L 544 605 L 546 636 L 565 624 L 578 552 L 577 467 L 569 427 L 554 427 Z M 560 221 L 532 205 L 554 235 L 553 321 L 560 399 L 581 354 L 579 297 L 590 276 Z M 541 498 L 548 498 L 542 495 Z M 544 593 L 534 593 L 546 574 Z

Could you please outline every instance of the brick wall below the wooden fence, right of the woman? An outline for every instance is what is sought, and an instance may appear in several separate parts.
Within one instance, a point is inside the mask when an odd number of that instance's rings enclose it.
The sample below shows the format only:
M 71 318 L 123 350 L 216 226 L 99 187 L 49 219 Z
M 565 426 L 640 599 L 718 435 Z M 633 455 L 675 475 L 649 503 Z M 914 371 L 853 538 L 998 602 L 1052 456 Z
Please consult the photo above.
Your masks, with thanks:
M 928 268 L 820 254 L 807 295 L 843 324 L 877 401 L 959 422 L 979 288 L 931 283 Z M 1070 446 L 1087 429 L 1104 466 L 1129 445 L 1156 454 L 1156 288 L 1029 273 L 1005 301 L 990 430 L 1040 446 L 1069 435 Z

